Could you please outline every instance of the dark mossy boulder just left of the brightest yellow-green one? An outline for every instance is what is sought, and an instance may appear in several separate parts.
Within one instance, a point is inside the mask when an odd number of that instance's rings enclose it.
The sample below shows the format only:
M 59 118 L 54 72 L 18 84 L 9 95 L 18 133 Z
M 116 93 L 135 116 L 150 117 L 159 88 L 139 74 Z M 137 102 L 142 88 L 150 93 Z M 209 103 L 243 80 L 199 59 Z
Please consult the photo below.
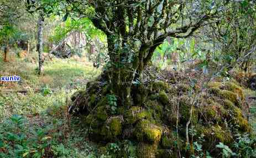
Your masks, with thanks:
M 117 137 L 122 134 L 122 120 L 119 117 L 109 118 L 101 130 L 101 135 L 107 140 L 117 140 Z

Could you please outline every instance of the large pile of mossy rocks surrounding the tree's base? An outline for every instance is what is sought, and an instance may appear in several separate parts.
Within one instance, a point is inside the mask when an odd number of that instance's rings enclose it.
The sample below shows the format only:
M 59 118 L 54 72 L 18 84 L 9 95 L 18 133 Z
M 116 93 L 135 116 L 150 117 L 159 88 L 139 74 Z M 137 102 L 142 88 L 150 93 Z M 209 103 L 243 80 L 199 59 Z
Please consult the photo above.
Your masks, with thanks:
M 117 100 L 113 112 L 106 97 L 107 85 L 94 81 L 87 84 L 86 91 L 72 96 L 71 107 L 85 116 L 81 118 L 89 128 L 90 140 L 103 144 L 133 141 L 137 157 L 177 157 L 178 153 L 186 157 L 194 153 L 194 149 L 187 148 L 191 146 L 186 142 L 187 124 L 192 130 L 190 141 L 192 137 L 193 141 L 205 139 L 203 150 L 215 148 L 220 142 L 231 145 L 237 134 L 250 132 L 242 113 L 243 88 L 236 81 L 212 81 L 201 92 L 190 84 L 182 85 L 181 90 L 164 81 L 150 81 L 140 86 L 143 90 L 139 91 L 147 94 L 140 97 L 143 101 L 137 98 L 136 104 L 123 107 Z M 128 156 L 120 152 L 116 157 Z

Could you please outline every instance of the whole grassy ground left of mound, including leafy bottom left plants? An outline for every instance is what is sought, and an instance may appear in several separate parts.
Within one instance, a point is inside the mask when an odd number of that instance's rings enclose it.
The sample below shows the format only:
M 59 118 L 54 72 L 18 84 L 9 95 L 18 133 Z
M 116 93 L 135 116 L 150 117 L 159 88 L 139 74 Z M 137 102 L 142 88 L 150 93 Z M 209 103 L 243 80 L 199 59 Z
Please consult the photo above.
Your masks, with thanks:
M 70 96 L 84 89 L 100 70 L 72 58 L 45 62 L 40 76 L 35 72 L 37 63 L 27 59 L 14 58 L 4 63 L 0 57 L 0 66 L 0 76 L 22 78 L 20 82 L 0 83 L 0 157 L 93 155 L 96 148 L 86 140 L 86 129 L 70 118 L 67 109 Z M 53 93 L 38 91 L 45 87 Z M 9 92 L 23 89 L 28 92 Z M 19 126 L 13 122 L 17 116 L 22 118 Z

